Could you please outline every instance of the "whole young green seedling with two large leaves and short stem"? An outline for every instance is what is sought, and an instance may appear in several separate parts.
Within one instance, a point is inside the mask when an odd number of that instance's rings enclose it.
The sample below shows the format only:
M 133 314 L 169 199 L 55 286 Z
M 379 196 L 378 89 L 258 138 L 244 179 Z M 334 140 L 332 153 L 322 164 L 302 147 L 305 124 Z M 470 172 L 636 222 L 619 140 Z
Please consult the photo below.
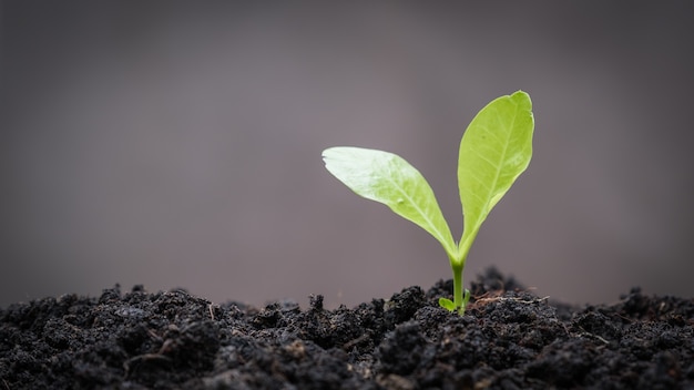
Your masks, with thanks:
M 470 291 L 462 289 L 470 246 L 489 212 L 530 164 L 533 130 L 532 102 L 523 91 L 493 100 L 468 125 L 458 157 L 463 212 L 462 237 L 458 243 L 433 191 L 419 171 L 400 156 L 338 146 L 325 150 L 323 160 L 326 168 L 357 195 L 387 205 L 441 243 L 453 271 L 453 300 L 439 298 L 439 305 L 462 316 L 470 300 Z

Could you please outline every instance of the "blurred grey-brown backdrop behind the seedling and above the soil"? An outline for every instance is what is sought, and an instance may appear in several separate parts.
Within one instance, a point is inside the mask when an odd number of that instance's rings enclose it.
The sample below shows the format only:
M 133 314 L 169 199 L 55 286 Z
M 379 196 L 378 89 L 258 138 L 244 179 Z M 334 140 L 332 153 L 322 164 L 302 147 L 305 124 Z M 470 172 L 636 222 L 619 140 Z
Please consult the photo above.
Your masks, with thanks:
M 382 148 L 459 237 L 458 143 L 519 89 L 533 161 L 473 245 L 539 295 L 694 296 L 694 6 L 0 6 L 0 305 L 184 287 L 348 306 L 450 278 L 443 249 L 324 168 Z

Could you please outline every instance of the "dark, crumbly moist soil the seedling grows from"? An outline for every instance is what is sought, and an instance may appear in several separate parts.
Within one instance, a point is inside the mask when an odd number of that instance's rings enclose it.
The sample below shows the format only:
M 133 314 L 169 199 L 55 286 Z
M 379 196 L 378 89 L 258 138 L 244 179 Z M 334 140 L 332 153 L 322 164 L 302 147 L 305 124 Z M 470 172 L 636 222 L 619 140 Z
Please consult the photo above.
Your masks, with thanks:
M 327 310 L 110 288 L 0 310 L 0 389 L 694 389 L 694 300 L 538 297 L 489 269 Z

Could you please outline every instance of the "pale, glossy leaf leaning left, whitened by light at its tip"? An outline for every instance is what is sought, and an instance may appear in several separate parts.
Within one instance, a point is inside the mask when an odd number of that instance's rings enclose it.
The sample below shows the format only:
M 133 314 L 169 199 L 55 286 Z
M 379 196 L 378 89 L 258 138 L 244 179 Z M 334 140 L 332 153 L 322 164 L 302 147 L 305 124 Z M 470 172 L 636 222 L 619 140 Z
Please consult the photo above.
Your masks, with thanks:
M 358 195 L 382 203 L 429 232 L 449 258 L 457 246 L 433 191 L 423 176 L 400 156 L 369 148 L 338 146 L 323 152 L 326 168 Z

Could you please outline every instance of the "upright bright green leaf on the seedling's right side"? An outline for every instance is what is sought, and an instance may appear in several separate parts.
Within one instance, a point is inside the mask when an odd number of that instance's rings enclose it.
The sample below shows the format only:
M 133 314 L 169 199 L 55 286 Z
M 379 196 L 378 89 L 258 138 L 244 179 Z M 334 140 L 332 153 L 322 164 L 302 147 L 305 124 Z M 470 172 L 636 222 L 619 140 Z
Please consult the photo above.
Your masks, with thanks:
M 522 91 L 493 100 L 466 130 L 458 161 L 462 265 L 489 212 L 530 164 L 533 130 L 532 102 Z

